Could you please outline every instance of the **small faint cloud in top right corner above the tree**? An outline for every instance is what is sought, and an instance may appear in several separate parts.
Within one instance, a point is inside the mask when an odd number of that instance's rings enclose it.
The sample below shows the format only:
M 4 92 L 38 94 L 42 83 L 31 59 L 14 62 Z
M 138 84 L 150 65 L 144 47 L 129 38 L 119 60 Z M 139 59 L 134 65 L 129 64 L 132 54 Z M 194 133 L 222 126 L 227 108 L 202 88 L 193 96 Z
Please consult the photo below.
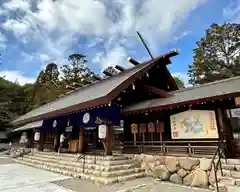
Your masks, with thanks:
M 230 22 L 240 22 L 240 0 L 231 1 L 231 3 L 223 9 L 223 16 Z

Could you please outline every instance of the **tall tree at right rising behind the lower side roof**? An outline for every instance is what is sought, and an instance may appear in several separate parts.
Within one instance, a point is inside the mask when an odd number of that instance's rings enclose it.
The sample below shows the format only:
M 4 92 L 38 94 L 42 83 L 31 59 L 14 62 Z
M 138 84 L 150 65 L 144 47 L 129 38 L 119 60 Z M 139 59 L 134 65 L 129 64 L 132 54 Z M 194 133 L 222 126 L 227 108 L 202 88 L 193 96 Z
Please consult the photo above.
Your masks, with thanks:
M 213 24 L 193 50 L 188 75 L 191 84 L 202 84 L 240 75 L 240 24 Z

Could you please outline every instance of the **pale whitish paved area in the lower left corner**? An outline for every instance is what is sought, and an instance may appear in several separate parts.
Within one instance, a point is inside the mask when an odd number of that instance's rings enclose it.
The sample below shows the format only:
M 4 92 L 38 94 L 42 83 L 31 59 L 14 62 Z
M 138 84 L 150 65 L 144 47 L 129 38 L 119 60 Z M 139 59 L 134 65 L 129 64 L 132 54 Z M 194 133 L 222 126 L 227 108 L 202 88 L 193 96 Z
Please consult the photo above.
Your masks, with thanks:
M 3 163 L 4 161 L 4 163 Z M 12 163 L 6 157 L 0 157 L 1 192 L 70 192 L 51 182 L 69 179 L 59 174 Z

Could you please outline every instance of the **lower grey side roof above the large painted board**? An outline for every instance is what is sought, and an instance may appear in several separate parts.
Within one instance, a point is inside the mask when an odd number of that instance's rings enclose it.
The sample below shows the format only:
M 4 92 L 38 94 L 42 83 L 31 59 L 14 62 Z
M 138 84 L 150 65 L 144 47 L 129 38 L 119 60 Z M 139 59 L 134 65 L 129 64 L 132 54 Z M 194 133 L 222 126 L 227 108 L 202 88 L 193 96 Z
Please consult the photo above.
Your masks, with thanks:
M 123 112 L 165 108 L 233 94 L 240 95 L 240 76 L 173 91 L 170 97 L 139 102 L 126 107 Z

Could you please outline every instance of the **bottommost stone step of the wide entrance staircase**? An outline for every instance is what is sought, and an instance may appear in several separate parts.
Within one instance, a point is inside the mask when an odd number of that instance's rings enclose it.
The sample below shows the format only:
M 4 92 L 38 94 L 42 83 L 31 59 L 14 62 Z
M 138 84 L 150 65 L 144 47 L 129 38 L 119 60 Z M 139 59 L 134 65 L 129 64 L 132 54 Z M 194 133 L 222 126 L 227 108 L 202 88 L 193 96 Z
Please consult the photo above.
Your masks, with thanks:
M 110 183 L 116 183 L 116 182 L 122 182 L 122 181 L 126 181 L 129 179 L 135 179 L 135 178 L 139 178 L 139 177 L 144 177 L 145 176 L 145 172 L 139 172 L 139 173 L 131 173 L 128 175 L 123 175 L 123 176 L 115 176 L 115 177 L 110 177 L 110 178 L 105 178 L 103 176 L 94 176 L 88 173 L 77 173 L 74 171 L 68 171 L 68 170 L 64 170 L 61 168 L 53 168 L 47 165 L 41 165 L 41 164 L 36 164 L 36 163 L 31 163 L 31 162 L 27 162 L 21 159 L 14 159 L 14 161 L 16 161 L 17 163 L 21 163 L 24 165 L 28 165 L 31 167 L 35 167 L 35 168 L 40 168 L 40 169 L 44 169 L 47 171 L 52 171 L 52 172 L 56 172 L 56 173 L 60 173 L 63 175 L 67 175 L 67 176 L 72 176 L 72 177 L 76 177 L 76 178 L 81 178 L 81 179 L 88 179 L 88 180 L 92 180 L 94 182 L 97 183 L 102 183 L 102 184 L 110 184 Z

